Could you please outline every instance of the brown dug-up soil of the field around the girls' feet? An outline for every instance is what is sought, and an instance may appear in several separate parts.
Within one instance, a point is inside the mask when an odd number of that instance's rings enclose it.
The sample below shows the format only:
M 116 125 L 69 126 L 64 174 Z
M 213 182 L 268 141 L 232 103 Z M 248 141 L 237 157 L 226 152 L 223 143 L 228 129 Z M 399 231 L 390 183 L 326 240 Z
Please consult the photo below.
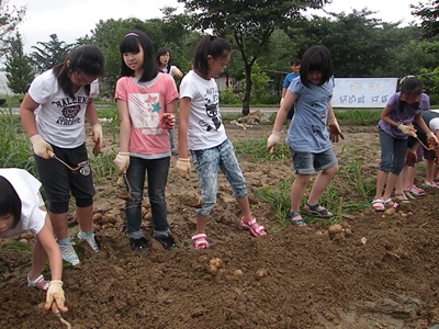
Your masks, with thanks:
M 266 137 L 270 129 L 227 125 L 233 141 Z M 344 131 L 346 139 L 335 145 L 340 166 L 345 149 L 354 146 L 363 178 L 374 179 L 375 129 Z M 172 167 L 175 161 L 173 157 Z M 212 247 L 206 250 L 194 250 L 190 242 L 195 227 L 190 206 L 198 189 L 194 172 L 190 182 L 171 174 L 167 186 L 177 250 L 162 250 L 150 238 L 145 200 L 144 227 L 150 240 L 146 254 L 135 254 L 128 247 L 124 203 L 114 196 L 115 179 L 97 183 L 95 230 L 102 251 L 77 246 L 81 265 L 64 271 L 69 307 L 64 317 L 72 328 L 359 329 L 430 328 L 439 322 L 437 191 L 428 190 L 392 216 L 371 208 L 344 214 L 345 230 L 336 235 L 328 234 L 326 222 L 280 229 L 274 209 L 252 192 L 291 178 L 289 161 L 239 162 L 252 212 L 269 235 L 256 239 L 239 228 L 239 209 L 219 174 L 218 202 L 207 226 Z M 423 179 L 418 171 L 417 183 Z M 339 195 L 335 197 L 359 201 L 341 178 L 336 183 Z M 101 215 L 105 220 L 98 220 Z M 75 218 L 70 229 L 72 236 Z M 214 258 L 222 260 L 222 266 L 211 273 L 209 263 Z M 24 284 L 29 263 L 29 252 L 0 252 L 0 328 L 66 328 L 37 307 L 45 295 Z

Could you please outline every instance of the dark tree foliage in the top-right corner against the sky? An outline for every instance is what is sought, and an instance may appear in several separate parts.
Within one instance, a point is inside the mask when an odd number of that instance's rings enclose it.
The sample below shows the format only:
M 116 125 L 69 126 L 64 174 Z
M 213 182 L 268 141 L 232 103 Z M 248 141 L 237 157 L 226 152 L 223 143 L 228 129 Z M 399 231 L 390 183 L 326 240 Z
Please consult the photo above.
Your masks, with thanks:
M 439 34 L 439 0 L 427 0 L 418 5 L 410 4 L 414 9 L 413 15 L 423 20 L 420 29 L 425 37 L 432 37 Z

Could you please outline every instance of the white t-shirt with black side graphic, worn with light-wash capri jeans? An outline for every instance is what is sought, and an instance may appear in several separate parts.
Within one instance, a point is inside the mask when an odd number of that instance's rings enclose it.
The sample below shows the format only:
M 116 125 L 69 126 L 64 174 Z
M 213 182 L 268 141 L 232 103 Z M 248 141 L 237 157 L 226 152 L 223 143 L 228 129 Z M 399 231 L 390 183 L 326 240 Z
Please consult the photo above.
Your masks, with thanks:
M 191 99 L 188 121 L 188 146 L 191 150 L 215 147 L 227 139 L 215 79 L 205 80 L 190 70 L 180 84 L 182 98 Z

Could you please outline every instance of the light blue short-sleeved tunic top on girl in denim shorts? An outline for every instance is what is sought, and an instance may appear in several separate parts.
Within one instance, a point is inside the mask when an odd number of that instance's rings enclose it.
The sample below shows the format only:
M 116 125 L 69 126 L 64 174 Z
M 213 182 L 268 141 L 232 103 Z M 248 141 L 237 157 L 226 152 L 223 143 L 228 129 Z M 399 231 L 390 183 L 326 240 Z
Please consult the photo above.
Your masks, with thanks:
M 285 141 L 294 151 L 322 154 L 333 147 L 326 128 L 333 90 L 334 77 L 322 86 L 309 83 L 309 88 L 301 79 L 291 82 L 289 91 L 297 100 Z

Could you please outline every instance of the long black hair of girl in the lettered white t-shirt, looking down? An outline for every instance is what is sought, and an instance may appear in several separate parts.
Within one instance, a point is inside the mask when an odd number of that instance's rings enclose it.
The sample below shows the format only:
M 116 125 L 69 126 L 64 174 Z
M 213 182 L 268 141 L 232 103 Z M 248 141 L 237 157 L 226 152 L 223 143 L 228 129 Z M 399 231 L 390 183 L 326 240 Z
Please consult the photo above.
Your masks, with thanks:
M 104 68 L 105 58 L 101 49 L 92 45 L 81 45 L 72 48 L 63 63 L 54 66 L 53 72 L 63 91 L 74 99 L 69 73 L 82 71 L 88 76 L 102 77 Z M 86 84 L 85 90 L 89 95 L 90 84 Z

